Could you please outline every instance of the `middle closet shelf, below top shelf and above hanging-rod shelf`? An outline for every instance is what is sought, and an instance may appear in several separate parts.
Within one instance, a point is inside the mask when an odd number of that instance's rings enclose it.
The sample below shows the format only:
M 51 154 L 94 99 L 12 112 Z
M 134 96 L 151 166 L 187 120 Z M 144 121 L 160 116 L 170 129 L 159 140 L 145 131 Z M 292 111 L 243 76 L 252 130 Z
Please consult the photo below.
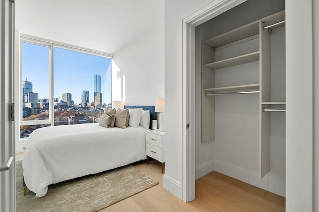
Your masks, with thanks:
M 259 51 L 249 53 L 246 55 L 241 55 L 237 56 L 234 58 L 229 58 L 221 61 L 216 61 L 213 63 L 209 64 L 204 64 L 204 67 L 212 68 L 212 69 L 220 69 L 220 68 L 225 68 L 229 66 L 236 66 L 239 64 L 245 64 L 253 61 L 258 61 L 259 60 Z

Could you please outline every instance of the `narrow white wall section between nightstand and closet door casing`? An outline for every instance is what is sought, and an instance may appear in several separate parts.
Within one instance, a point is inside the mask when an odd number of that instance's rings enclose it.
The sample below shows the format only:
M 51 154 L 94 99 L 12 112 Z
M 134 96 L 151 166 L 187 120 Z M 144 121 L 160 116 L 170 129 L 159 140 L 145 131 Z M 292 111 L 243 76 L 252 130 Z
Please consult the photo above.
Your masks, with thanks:
M 165 175 L 163 187 L 182 199 L 182 19 L 211 0 L 165 0 Z

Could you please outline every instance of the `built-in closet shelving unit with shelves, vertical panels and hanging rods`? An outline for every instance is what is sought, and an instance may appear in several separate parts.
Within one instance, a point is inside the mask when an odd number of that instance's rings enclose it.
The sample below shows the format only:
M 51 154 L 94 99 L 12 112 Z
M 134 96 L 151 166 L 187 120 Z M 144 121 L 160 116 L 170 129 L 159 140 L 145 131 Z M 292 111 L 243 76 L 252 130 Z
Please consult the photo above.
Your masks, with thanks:
M 276 65 L 276 58 L 273 58 L 274 63 L 271 63 L 271 34 L 276 30 L 284 32 L 284 26 L 285 11 L 281 11 L 205 40 L 201 46 L 202 144 L 215 140 L 215 98 L 217 96 L 259 94 L 260 178 L 263 178 L 270 170 L 271 114 L 285 113 L 285 91 L 277 95 L 277 91 L 274 90 L 277 89 L 276 85 L 285 85 L 285 78 L 272 77 L 276 76 L 276 67 L 272 67 Z M 245 48 L 240 48 L 241 45 Z M 232 51 L 231 48 L 234 46 L 240 51 Z M 245 69 L 245 66 L 254 67 L 253 71 L 242 71 L 247 77 L 237 82 L 237 68 Z M 228 78 L 221 78 L 220 71 L 225 71 L 223 74 Z M 278 80 L 283 81 L 277 82 Z M 220 86 L 220 84 L 226 84 L 226 86 Z

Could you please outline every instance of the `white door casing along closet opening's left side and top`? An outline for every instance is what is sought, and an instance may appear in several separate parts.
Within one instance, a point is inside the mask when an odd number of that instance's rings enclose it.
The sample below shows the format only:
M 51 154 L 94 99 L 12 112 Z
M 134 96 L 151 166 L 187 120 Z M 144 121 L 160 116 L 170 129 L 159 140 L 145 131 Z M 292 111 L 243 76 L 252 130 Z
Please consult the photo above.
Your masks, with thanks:
M 194 87 L 194 27 L 245 2 L 246 0 L 214 0 L 182 19 L 182 200 L 195 198 L 195 87 Z M 193 121 L 193 122 L 192 122 Z M 186 124 L 190 129 L 186 129 Z

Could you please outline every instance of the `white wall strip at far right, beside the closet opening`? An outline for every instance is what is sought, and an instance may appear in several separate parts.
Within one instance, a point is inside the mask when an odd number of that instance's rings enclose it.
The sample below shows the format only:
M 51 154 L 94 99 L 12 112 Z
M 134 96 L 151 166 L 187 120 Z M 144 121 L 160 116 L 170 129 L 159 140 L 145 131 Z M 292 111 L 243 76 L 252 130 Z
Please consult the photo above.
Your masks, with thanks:
M 316 0 L 286 0 L 286 211 L 289 212 L 319 211 L 318 13 Z

